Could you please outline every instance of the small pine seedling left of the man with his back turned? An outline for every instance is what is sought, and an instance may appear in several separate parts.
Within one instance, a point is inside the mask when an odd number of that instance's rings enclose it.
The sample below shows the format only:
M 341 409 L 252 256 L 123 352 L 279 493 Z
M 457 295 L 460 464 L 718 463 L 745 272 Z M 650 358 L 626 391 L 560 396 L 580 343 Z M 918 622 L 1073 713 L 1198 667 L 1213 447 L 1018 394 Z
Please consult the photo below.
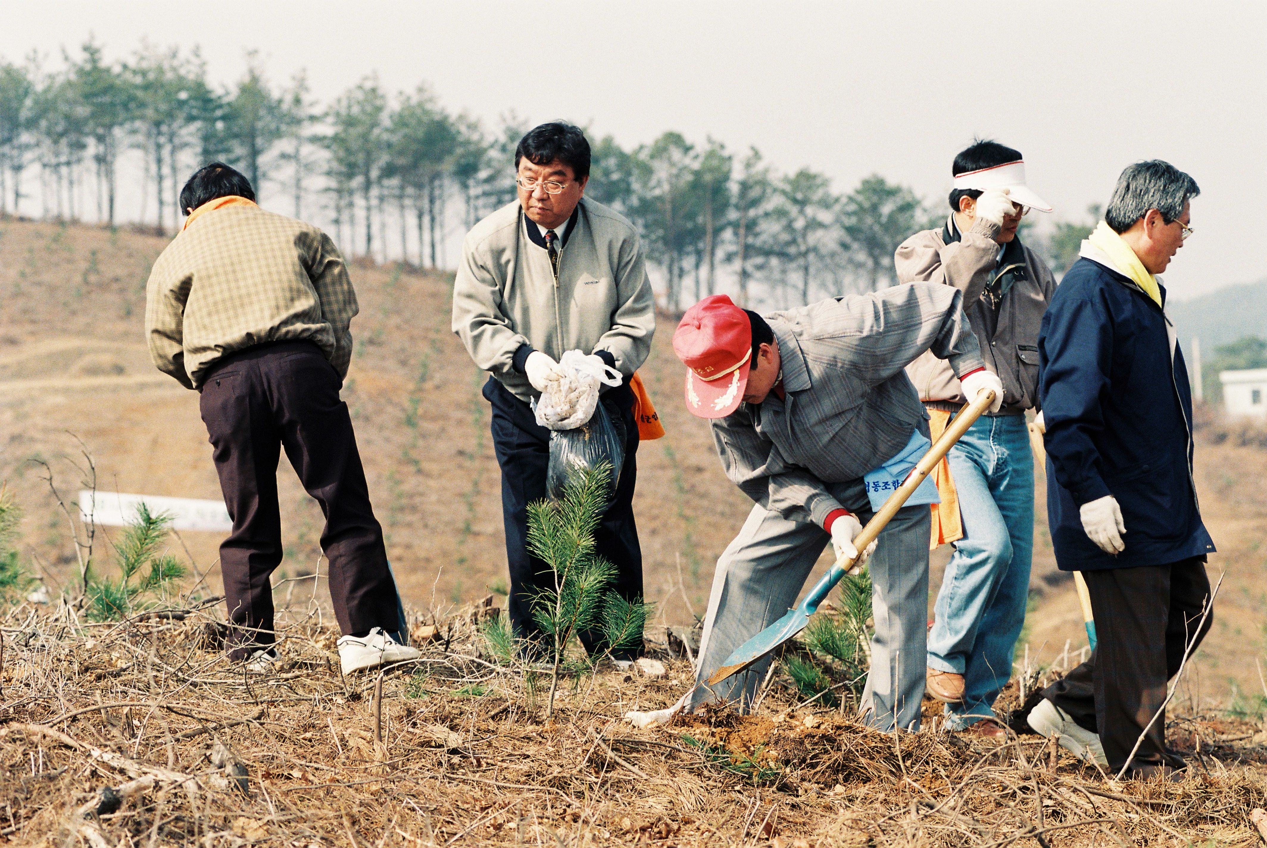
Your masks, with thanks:
M 175 556 L 160 553 L 170 525 L 171 516 L 155 515 L 146 503 L 137 507 L 137 520 L 128 525 L 115 546 L 119 577 L 89 578 L 90 620 L 118 621 L 127 617 L 142 596 L 161 594 L 185 575 L 185 567 Z

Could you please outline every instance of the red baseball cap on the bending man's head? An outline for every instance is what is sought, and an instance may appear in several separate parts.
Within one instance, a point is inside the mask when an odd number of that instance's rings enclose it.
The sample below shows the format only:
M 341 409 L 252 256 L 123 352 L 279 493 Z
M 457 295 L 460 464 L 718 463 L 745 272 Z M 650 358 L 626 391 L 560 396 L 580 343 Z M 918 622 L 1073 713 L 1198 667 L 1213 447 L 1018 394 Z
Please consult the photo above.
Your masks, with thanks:
M 673 333 L 687 366 L 687 408 L 701 418 L 729 416 L 744 401 L 753 357 L 753 324 L 725 294 L 687 309 Z

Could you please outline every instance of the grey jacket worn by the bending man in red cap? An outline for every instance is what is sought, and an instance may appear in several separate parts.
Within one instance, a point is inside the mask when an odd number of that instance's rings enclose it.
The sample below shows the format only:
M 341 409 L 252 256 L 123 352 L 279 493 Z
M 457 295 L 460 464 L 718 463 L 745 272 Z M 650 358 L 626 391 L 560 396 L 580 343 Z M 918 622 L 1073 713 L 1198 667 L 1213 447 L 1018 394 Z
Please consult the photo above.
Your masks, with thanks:
M 902 369 L 929 351 L 955 374 L 982 366 L 958 289 L 930 283 L 851 294 L 765 316 L 786 397 L 772 392 L 712 422 L 726 477 L 789 521 L 841 508 L 832 483 L 856 480 L 927 435 Z

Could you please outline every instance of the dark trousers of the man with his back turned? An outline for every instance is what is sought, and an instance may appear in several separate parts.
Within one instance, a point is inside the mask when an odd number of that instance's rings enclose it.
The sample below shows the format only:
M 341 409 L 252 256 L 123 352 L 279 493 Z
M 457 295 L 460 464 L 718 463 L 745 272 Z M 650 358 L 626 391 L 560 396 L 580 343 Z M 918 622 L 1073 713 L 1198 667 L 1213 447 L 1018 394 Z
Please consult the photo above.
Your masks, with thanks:
M 199 408 L 233 518 L 233 532 L 220 545 L 233 659 L 274 641 L 269 575 L 283 553 L 283 447 L 326 516 L 321 546 L 338 626 L 350 634 L 392 633 L 399 625 L 383 529 L 370 507 L 347 404 L 338 398 L 341 383 L 315 345 L 281 342 L 227 356 L 200 389 Z

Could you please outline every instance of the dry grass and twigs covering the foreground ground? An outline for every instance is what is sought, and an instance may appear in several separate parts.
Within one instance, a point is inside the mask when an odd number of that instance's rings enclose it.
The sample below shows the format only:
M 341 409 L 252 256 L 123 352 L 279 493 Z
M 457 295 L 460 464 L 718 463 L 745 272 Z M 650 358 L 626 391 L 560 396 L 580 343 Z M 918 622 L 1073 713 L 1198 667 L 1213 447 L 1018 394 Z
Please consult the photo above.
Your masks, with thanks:
M 689 679 L 689 662 L 664 652 L 665 678 L 578 673 L 546 721 L 549 674 L 490 662 L 481 606 L 426 616 L 437 635 L 422 659 L 381 678 L 340 676 L 337 633 L 313 605 L 283 614 L 280 668 L 246 677 L 220 653 L 219 606 L 196 606 L 104 625 L 65 605 L 6 611 L 0 838 L 1247 844 L 1267 791 L 1267 733 L 1248 723 L 1172 721 L 1194 772 L 1178 785 L 1109 782 L 1038 736 L 881 734 L 797 709 L 778 678 L 755 716 L 708 711 L 635 730 L 627 710 L 666 706 Z

